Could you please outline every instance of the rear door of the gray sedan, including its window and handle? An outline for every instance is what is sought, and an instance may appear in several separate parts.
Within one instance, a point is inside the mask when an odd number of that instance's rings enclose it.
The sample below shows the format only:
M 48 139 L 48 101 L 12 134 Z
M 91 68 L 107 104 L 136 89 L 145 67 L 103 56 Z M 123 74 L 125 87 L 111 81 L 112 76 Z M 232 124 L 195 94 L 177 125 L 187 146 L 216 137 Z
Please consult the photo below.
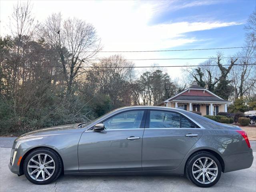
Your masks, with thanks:
M 177 168 L 202 134 L 202 128 L 178 112 L 148 110 L 142 142 L 142 170 Z

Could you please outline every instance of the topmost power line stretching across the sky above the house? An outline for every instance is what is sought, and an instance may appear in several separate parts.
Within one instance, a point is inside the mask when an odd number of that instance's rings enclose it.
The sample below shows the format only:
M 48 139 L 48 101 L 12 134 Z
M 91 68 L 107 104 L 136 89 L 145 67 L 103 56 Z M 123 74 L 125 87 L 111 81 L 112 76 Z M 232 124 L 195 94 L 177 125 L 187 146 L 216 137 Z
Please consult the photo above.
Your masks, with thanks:
M 105 53 L 121 53 L 121 52 L 169 52 L 169 51 L 200 51 L 200 50 L 220 50 L 220 49 L 237 49 L 237 48 L 253 48 L 256 46 L 244 46 L 244 47 L 222 47 L 222 48 L 203 48 L 203 49 L 173 49 L 173 50 L 143 50 L 143 51 L 98 51 Z M 41 52 L 41 51 L 35 51 Z M 56 50 L 46 50 L 44 52 L 59 52 Z M 95 51 L 82 51 L 82 52 L 95 52 Z

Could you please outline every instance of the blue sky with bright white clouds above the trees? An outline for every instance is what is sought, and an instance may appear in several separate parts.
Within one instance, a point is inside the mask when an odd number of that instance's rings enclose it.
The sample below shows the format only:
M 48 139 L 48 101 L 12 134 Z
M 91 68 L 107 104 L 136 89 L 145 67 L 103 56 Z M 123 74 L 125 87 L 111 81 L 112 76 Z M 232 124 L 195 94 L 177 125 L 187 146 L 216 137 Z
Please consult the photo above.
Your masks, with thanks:
M 17 0 L 0 0 L 0 35 L 8 34 L 9 18 Z M 31 0 L 36 20 L 61 12 L 63 18 L 79 18 L 94 25 L 103 51 L 176 50 L 243 46 L 248 16 L 256 0 L 83 1 Z M 222 50 L 233 56 L 239 49 Z M 206 58 L 216 50 L 122 53 L 126 59 Z M 110 56 L 100 53 L 98 57 Z M 134 61 L 135 66 L 197 65 L 197 60 Z M 138 73 L 146 71 L 142 68 Z M 171 78 L 181 68 L 164 68 Z

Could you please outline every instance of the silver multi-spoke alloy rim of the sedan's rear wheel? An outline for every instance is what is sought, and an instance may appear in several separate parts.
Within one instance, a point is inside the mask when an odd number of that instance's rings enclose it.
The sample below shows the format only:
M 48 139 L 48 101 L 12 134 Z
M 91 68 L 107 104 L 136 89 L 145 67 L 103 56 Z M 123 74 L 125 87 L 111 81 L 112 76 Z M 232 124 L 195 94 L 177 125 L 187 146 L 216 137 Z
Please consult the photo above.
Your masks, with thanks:
M 218 166 L 209 157 L 198 158 L 192 166 L 192 174 L 202 184 L 212 183 L 218 175 Z

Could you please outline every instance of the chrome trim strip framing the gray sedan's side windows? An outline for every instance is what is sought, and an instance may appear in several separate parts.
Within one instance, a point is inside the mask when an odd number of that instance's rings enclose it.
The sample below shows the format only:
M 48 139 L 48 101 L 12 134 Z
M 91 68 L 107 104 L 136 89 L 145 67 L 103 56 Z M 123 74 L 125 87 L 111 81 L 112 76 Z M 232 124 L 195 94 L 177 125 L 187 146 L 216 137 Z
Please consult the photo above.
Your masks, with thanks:
M 162 111 L 170 111 L 170 112 L 177 112 L 177 113 L 179 113 L 179 114 L 182 114 L 182 115 L 184 115 L 186 118 L 188 118 L 189 120 L 191 120 L 192 122 L 194 122 L 199 128 L 188 128 L 188 129 L 192 129 L 192 130 L 194 130 L 194 129 L 205 129 L 204 128 L 204 126 L 202 126 L 201 124 L 199 124 L 198 122 L 196 122 L 195 120 L 193 120 L 193 119 L 191 119 L 190 117 L 188 117 L 186 114 L 184 114 L 184 113 L 182 113 L 182 112 L 180 112 L 181 111 L 181 109 L 176 109 L 176 110 L 172 110 L 172 108 L 164 108 L 164 109 L 160 109 L 160 108 L 153 108 L 153 107 L 148 107 L 148 108 L 130 108 L 130 109 L 125 109 L 125 110 L 118 110 L 118 111 L 116 111 L 116 112 L 114 112 L 114 114 L 112 114 L 112 115 L 115 115 L 115 114 L 117 114 L 117 113 L 119 113 L 119 112 L 125 112 L 125 111 L 129 111 L 129 110 L 162 110 Z M 112 116 L 111 115 L 111 116 Z M 107 118 L 109 118 L 110 116 L 108 116 L 108 117 L 106 117 L 106 118 L 104 118 L 104 119 L 102 119 L 102 120 L 99 120 L 97 123 L 95 123 L 95 124 L 93 124 L 92 126 L 90 126 L 89 128 L 87 128 L 85 131 L 89 131 L 89 129 L 90 128 L 92 128 L 93 126 L 95 126 L 96 124 L 98 124 L 99 122 L 102 122 L 102 121 L 104 121 L 105 119 L 107 119 Z M 142 128 L 138 128 L 138 129 L 142 129 Z M 145 129 L 145 128 L 144 128 Z M 146 129 L 148 129 L 148 128 L 146 128 Z M 149 129 L 153 129 L 153 128 L 149 128 Z M 163 128 L 160 128 L 160 129 L 163 129 Z M 167 128 L 167 129 L 173 129 L 173 128 Z M 176 129 L 176 128 L 175 128 Z M 177 128 L 177 129 L 184 129 L 184 128 Z M 116 129 L 117 130 L 117 129 Z M 122 129 L 122 130 L 131 130 L 131 129 Z

